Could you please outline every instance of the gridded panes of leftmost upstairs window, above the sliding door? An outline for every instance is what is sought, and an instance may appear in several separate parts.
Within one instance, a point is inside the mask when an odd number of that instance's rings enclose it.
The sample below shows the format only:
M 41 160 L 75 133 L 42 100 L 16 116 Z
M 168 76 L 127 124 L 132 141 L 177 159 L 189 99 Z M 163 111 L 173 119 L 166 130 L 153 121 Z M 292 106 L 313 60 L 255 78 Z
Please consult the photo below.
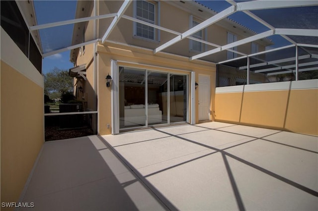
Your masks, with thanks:
M 135 4 L 136 18 L 155 24 L 156 23 L 156 5 L 146 0 L 137 0 Z M 156 39 L 154 27 L 150 27 L 141 23 L 135 25 L 135 35 L 149 40 Z

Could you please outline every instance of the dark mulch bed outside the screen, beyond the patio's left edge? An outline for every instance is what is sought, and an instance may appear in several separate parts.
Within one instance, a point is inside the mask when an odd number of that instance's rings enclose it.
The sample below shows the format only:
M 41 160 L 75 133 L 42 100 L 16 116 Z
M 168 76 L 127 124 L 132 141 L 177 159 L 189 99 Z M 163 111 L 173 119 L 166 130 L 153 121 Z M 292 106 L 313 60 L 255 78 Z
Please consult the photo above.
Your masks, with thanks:
M 90 128 L 61 130 L 60 127 L 45 127 L 45 141 L 71 139 L 90 135 L 94 135 Z

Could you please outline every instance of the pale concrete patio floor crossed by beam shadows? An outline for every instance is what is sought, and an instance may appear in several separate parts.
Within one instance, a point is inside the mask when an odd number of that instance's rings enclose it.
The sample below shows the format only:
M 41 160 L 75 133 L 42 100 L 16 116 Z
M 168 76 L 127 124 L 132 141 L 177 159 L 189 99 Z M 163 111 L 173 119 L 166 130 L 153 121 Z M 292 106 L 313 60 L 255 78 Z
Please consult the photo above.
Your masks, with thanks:
M 46 142 L 23 195 L 40 211 L 318 210 L 318 137 L 207 122 Z

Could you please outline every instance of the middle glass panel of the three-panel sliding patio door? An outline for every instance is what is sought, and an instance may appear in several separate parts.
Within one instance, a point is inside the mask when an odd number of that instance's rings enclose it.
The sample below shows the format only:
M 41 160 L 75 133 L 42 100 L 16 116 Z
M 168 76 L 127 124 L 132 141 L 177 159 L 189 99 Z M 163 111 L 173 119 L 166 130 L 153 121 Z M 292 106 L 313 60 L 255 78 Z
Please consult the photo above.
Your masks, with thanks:
M 167 73 L 148 71 L 148 125 L 167 123 Z

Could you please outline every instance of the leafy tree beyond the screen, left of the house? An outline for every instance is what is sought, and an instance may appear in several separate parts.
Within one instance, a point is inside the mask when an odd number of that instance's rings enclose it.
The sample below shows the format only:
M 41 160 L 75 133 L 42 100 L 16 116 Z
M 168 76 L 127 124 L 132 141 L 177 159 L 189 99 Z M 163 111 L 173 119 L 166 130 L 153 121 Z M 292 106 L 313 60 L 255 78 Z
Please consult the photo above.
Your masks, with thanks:
M 57 93 L 61 96 L 66 92 L 73 92 L 73 78 L 69 76 L 68 70 L 55 67 L 44 75 L 44 93 L 51 99 L 56 99 Z

